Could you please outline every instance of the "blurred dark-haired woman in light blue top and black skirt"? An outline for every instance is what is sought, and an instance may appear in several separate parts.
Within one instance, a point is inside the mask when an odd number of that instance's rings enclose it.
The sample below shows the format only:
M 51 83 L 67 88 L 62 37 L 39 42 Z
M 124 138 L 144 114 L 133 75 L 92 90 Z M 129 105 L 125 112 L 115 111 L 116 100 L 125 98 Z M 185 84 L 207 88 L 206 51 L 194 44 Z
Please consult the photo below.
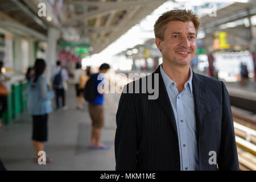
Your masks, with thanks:
M 28 113 L 32 115 L 32 142 L 35 149 L 35 159 L 38 160 L 39 151 L 44 151 L 44 143 L 47 141 L 48 113 L 52 112 L 51 99 L 53 92 L 48 90 L 46 78 L 42 75 L 46 68 L 43 59 L 36 59 L 34 76 L 28 84 Z M 47 158 L 47 162 L 52 159 Z

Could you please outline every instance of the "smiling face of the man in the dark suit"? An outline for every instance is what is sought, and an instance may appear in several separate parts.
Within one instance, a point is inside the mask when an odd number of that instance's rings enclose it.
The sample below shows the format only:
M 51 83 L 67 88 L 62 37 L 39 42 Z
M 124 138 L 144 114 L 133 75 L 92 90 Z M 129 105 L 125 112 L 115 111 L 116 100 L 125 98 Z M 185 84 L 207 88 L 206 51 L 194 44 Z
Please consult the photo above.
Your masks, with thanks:
M 171 21 L 166 26 L 164 40 L 155 39 L 163 61 L 180 67 L 188 65 L 196 53 L 196 28 L 193 22 Z

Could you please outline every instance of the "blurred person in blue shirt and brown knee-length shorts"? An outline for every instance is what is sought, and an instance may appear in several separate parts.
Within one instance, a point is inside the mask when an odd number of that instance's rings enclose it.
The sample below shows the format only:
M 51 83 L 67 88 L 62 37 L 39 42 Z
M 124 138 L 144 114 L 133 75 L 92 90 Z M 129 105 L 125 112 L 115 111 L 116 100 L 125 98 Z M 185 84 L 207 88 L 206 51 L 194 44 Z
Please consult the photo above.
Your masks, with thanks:
M 94 81 L 95 92 L 94 100 L 88 103 L 88 110 L 90 113 L 90 118 L 92 119 L 92 131 L 89 148 L 93 149 L 108 150 L 110 148 L 110 146 L 106 146 L 105 144 L 100 142 L 101 129 L 104 126 L 104 84 L 102 84 L 102 81 L 104 82 L 105 79 L 103 74 L 108 72 L 109 68 L 109 64 L 101 64 L 99 72 L 93 74 L 90 78 Z M 102 90 L 98 90 L 98 85 L 100 83 L 102 84 Z

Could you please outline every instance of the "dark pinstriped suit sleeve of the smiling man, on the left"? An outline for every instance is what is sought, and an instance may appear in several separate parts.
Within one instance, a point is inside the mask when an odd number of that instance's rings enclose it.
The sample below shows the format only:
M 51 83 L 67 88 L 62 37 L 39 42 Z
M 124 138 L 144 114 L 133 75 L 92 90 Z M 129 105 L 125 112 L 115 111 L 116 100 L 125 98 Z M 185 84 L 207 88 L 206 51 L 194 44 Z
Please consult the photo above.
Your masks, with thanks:
M 115 170 L 137 169 L 137 121 L 133 95 L 122 93 L 119 100 L 115 132 Z

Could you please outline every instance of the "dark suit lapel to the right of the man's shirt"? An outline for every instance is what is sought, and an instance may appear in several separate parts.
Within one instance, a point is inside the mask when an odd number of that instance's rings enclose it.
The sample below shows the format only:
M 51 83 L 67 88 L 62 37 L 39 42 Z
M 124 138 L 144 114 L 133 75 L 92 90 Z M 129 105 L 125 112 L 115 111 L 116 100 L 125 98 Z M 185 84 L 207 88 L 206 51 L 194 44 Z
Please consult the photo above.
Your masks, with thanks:
M 205 103 L 205 82 L 200 79 L 199 75 L 193 72 L 192 78 L 193 96 L 195 101 L 195 116 L 196 116 L 196 140 L 199 146 L 199 135 L 204 115 Z

